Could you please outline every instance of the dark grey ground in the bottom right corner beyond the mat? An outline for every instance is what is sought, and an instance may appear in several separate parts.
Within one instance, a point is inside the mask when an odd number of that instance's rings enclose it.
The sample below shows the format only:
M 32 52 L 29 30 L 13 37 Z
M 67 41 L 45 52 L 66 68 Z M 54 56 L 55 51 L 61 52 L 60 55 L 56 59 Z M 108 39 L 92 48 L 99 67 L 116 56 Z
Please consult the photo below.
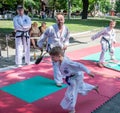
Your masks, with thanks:
M 91 113 L 120 113 L 120 92 Z

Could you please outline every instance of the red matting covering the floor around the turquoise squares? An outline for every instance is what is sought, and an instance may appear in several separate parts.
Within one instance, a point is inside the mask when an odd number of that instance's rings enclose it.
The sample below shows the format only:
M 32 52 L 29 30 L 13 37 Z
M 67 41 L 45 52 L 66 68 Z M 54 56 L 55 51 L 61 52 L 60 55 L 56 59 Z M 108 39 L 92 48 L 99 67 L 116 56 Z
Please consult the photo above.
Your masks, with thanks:
M 85 75 L 85 81 L 99 85 L 100 94 L 91 91 L 87 96 L 78 96 L 76 113 L 90 113 L 120 91 L 120 73 L 106 68 L 99 68 L 91 61 L 80 60 L 81 57 L 96 53 L 100 46 L 85 48 L 67 53 L 71 59 L 82 62 L 96 73 L 95 78 Z M 86 52 L 87 51 L 87 52 Z M 74 56 L 73 56 L 74 55 Z M 49 59 L 48 59 L 49 60 Z M 0 87 L 31 78 L 36 75 L 53 79 L 51 64 L 41 63 L 0 73 Z M 0 91 L 0 113 L 67 113 L 60 107 L 66 89 L 28 104 L 12 95 Z

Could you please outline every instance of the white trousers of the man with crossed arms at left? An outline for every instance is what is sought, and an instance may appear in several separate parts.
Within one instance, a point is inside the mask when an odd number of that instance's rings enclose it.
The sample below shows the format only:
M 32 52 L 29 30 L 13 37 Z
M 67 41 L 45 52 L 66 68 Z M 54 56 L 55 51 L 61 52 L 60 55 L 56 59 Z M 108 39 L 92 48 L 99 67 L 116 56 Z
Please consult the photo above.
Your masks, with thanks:
M 30 63 L 30 38 L 19 37 L 15 38 L 15 46 L 16 46 L 16 56 L 15 63 L 16 65 L 22 64 L 23 54 L 25 55 L 25 63 Z

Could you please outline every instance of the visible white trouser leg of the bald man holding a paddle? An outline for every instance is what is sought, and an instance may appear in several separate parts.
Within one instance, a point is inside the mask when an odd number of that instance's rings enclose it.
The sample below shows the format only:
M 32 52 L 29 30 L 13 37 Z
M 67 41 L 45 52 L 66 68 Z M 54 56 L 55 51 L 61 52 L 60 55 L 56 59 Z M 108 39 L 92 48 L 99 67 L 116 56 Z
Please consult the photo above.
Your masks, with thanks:
M 58 62 L 53 62 L 54 80 L 57 84 L 63 83 L 63 76 L 61 75 Z

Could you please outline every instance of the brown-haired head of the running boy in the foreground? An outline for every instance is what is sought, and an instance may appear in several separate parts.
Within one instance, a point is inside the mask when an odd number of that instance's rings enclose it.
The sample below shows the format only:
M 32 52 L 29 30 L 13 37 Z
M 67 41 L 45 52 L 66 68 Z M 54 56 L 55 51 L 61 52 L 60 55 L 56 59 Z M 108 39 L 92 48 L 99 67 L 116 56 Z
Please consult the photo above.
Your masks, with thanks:
M 54 62 L 58 62 L 58 61 L 62 61 L 63 57 L 64 57 L 64 51 L 61 47 L 56 46 L 53 47 L 50 52 L 49 52 L 51 59 Z

